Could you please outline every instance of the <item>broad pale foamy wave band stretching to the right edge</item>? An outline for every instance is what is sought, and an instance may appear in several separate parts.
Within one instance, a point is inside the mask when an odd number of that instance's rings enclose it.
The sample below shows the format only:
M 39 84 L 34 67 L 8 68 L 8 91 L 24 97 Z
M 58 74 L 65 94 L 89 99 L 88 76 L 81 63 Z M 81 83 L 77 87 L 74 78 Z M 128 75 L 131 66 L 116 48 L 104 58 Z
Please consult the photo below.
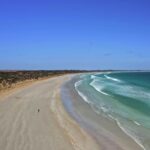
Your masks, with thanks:
M 148 101 L 148 99 L 150 99 L 150 91 L 145 90 L 142 87 L 123 83 L 122 81 L 107 82 L 104 79 L 98 78 L 93 80 L 92 86 L 102 94 L 107 94 L 103 92 L 103 89 L 108 89 L 111 90 L 112 93 L 115 93 L 117 95 L 134 98 L 150 105 L 150 101 Z

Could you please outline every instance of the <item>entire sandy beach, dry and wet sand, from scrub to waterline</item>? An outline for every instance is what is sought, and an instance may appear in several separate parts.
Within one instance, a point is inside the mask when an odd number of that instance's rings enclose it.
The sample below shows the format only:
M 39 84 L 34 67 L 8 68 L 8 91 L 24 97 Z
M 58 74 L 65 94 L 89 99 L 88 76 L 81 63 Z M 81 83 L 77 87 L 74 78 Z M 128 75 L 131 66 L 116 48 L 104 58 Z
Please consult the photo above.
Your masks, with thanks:
M 142 150 L 115 122 L 92 111 L 74 91 L 73 76 L 1 94 L 0 149 Z

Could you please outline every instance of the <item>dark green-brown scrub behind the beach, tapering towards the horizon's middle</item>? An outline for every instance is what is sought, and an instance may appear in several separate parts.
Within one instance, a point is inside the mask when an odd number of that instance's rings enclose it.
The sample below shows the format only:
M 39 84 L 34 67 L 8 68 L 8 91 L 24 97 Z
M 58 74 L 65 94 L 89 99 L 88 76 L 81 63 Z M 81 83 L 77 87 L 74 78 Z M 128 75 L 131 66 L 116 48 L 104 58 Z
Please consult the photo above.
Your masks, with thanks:
M 0 90 L 10 88 L 15 84 L 26 80 L 38 80 L 41 78 L 63 75 L 67 73 L 81 73 L 85 71 L 55 70 L 55 71 L 0 71 Z

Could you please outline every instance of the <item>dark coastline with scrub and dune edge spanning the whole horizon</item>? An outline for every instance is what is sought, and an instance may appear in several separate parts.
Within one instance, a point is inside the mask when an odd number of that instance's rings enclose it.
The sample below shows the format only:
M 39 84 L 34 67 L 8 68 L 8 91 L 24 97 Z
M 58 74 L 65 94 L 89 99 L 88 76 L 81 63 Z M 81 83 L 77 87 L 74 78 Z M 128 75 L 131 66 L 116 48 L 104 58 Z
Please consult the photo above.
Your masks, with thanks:
M 0 70 L 0 92 L 18 85 L 73 73 L 149 72 L 150 70 Z

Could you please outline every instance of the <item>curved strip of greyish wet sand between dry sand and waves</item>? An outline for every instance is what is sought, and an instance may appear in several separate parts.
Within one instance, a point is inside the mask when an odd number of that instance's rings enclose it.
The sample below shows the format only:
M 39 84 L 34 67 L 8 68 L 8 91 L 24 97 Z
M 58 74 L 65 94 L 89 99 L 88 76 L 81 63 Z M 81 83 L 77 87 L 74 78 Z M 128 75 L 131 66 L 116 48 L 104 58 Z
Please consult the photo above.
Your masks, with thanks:
M 143 150 L 125 134 L 114 120 L 93 111 L 74 88 L 75 78 L 62 88 L 62 98 L 68 113 L 99 144 L 102 150 Z

